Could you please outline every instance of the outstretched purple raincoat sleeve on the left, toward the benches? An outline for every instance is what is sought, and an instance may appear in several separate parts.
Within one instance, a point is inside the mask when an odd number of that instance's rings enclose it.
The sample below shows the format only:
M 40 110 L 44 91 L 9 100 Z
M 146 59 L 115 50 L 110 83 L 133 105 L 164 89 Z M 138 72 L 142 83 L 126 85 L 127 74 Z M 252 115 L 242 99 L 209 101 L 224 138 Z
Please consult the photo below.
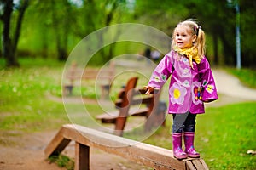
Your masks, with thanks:
M 173 67 L 173 59 L 172 53 L 166 54 L 163 59 L 160 60 L 159 65 L 156 66 L 154 69 L 149 82 L 148 86 L 160 89 L 163 87 L 167 79 L 172 74 L 172 67 Z

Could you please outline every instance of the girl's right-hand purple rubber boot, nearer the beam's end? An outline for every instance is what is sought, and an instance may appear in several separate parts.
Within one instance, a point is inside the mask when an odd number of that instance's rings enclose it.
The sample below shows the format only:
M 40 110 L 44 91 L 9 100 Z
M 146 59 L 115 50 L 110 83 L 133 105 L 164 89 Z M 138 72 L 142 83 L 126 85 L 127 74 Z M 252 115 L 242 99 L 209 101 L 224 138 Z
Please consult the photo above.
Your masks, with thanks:
M 196 157 L 200 157 L 200 154 L 195 151 L 194 138 L 195 138 L 195 133 L 184 132 L 185 152 L 189 157 L 196 158 Z

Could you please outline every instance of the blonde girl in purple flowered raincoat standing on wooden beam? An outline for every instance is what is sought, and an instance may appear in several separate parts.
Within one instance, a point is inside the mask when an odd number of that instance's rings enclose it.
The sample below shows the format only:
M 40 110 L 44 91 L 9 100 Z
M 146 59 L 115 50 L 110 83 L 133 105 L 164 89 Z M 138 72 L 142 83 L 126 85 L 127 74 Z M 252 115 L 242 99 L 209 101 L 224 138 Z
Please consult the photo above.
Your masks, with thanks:
M 205 34 L 194 20 L 177 24 L 172 34 L 172 50 L 154 69 L 145 86 L 146 94 L 162 88 L 171 75 L 168 111 L 173 117 L 173 156 L 177 159 L 200 157 L 194 148 L 195 117 L 205 112 L 203 102 L 218 99 L 218 94 L 205 57 Z

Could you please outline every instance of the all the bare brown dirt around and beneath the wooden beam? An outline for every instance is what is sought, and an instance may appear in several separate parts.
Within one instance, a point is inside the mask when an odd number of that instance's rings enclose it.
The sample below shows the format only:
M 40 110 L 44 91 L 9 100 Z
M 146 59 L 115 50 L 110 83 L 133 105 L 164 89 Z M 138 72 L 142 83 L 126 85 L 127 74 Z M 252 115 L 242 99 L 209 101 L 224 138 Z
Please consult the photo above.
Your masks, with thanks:
M 0 170 L 65 170 L 44 158 L 44 149 L 57 131 L 41 133 L 8 132 L 1 134 Z M 74 142 L 63 154 L 74 158 Z M 101 150 L 91 149 L 92 170 L 143 170 L 148 169 L 119 156 L 109 155 Z

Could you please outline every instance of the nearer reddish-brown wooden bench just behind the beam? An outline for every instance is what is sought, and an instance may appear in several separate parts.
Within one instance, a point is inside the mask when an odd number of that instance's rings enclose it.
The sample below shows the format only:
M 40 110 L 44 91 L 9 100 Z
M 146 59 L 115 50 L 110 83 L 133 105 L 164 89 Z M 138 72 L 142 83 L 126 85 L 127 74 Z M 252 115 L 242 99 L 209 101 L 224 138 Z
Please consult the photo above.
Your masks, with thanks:
M 117 111 L 96 116 L 96 119 L 102 123 L 114 123 L 114 133 L 116 135 L 123 135 L 125 123 L 129 116 L 144 116 L 147 132 L 158 122 L 161 122 L 161 124 L 165 122 L 165 112 L 163 115 L 156 115 L 160 92 L 146 95 L 146 89 L 136 88 L 137 79 L 137 77 L 132 77 L 125 88 L 119 92 L 118 100 L 115 102 Z M 161 119 L 158 119 L 159 117 Z

